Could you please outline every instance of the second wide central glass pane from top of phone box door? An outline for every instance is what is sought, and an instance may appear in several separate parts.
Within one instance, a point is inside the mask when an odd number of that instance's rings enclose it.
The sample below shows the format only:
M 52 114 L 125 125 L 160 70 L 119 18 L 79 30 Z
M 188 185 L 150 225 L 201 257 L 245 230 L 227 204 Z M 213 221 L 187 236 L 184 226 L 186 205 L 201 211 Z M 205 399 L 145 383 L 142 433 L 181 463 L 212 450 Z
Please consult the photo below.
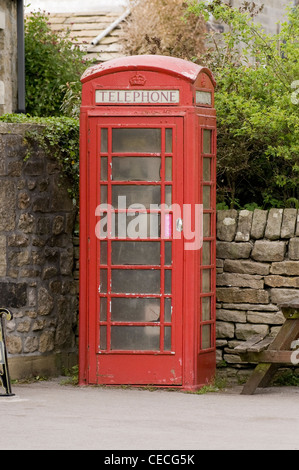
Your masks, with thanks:
M 113 157 L 114 181 L 160 181 L 160 157 Z

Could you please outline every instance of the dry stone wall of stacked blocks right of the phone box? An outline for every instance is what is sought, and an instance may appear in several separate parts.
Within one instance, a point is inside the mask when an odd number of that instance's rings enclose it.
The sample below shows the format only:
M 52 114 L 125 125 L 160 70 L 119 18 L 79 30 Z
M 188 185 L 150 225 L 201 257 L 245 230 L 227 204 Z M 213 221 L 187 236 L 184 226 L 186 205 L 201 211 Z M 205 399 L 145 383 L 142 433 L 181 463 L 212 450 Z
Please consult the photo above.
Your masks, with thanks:
M 279 305 L 299 298 L 299 211 L 219 211 L 216 292 L 217 363 L 241 374 L 246 365 L 234 347 L 277 334 Z

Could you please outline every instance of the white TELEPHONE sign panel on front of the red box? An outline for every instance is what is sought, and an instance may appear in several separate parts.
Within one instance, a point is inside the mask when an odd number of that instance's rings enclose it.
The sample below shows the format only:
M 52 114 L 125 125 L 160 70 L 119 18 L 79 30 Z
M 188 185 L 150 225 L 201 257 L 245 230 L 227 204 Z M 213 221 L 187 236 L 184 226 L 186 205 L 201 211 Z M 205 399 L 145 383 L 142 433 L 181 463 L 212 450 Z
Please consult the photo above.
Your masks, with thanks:
M 96 104 L 177 104 L 179 90 L 96 90 Z

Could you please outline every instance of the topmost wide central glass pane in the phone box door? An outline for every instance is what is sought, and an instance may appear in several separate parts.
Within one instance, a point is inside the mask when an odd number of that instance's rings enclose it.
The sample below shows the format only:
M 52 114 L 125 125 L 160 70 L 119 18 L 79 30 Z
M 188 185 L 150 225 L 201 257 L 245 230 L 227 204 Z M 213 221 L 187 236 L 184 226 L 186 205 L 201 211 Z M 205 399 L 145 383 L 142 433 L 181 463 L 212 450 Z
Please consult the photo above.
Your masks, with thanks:
M 161 153 L 161 129 L 113 129 L 112 152 Z

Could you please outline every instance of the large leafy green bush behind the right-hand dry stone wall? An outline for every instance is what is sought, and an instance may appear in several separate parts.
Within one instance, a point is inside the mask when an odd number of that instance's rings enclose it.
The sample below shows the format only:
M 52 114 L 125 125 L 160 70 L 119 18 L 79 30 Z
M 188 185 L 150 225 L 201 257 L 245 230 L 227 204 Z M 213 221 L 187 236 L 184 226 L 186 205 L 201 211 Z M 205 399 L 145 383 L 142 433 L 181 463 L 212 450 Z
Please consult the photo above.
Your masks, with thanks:
M 292 89 L 299 77 L 299 7 L 288 10 L 273 36 L 253 20 L 252 2 L 234 9 L 221 0 L 192 1 L 189 10 L 226 25 L 224 34 L 209 36 L 204 58 L 217 82 L 219 202 L 298 207 L 299 105 Z

